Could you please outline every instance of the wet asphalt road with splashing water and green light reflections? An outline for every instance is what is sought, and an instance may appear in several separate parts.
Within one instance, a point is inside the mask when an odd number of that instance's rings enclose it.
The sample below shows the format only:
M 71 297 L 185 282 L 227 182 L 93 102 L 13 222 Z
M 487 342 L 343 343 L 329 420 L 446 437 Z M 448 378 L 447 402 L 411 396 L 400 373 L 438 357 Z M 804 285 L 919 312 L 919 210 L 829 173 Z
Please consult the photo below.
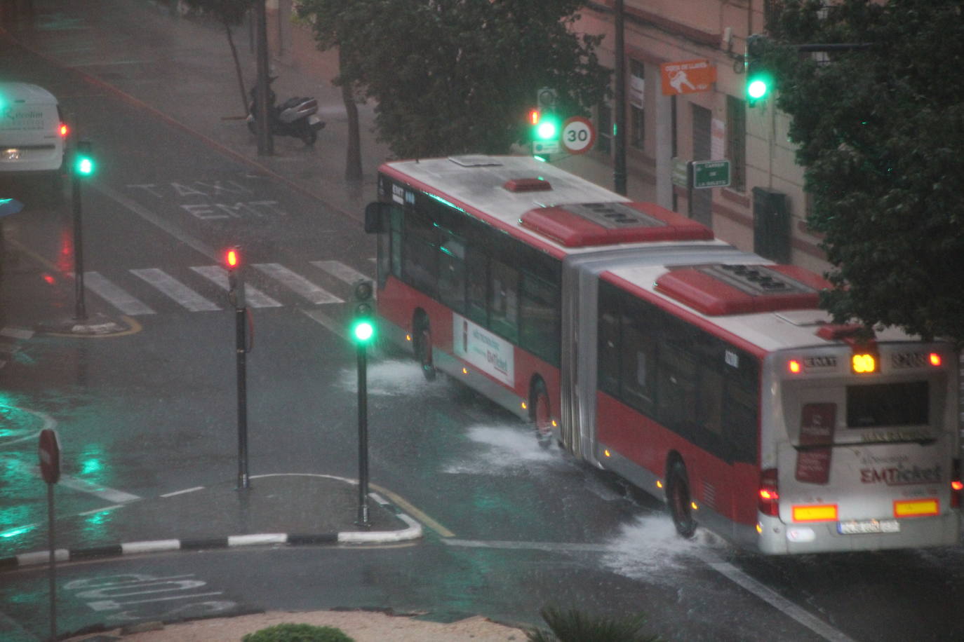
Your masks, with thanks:
M 108 499 L 94 487 L 156 497 L 231 478 L 233 316 L 205 273 L 224 247 L 240 244 L 249 263 L 281 266 L 345 298 L 346 282 L 325 267 L 371 275 L 372 240 L 356 220 L 110 90 L 22 51 L 5 49 L 0 69 L 57 93 L 94 141 L 100 163 L 84 192 L 85 270 L 144 306 L 124 311 L 118 299 L 89 293 L 93 311 L 127 316 L 139 331 L 87 340 L 39 333 L 17 341 L 5 359 L 5 533 L 45 520 L 45 489 L 29 466 L 36 459 L 30 437 L 48 421 L 61 434 L 65 474 L 80 487 L 58 486 L 64 514 L 102 507 Z M 291 167 L 298 171 L 297 157 Z M 5 179 L 0 188 L 28 204 L 2 221 L 0 326 L 69 317 L 65 203 L 36 182 Z M 197 309 L 190 309 L 161 293 L 148 280 L 158 273 L 209 305 L 194 300 Z M 355 476 L 355 357 L 332 330 L 342 324 L 340 305 L 310 289 L 296 292 L 261 269 L 249 275 L 278 303 L 253 309 L 252 472 Z M 535 623 L 541 606 L 556 603 L 641 610 L 668 639 L 964 636 L 956 608 L 964 587 L 960 550 L 764 559 L 708 539 L 680 542 L 655 501 L 539 449 L 494 406 L 451 382 L 425 382 L 394 356 L 379 357 L 369 372 L 372 478 L 426 518 L 424 541 L 70 564 L 59 570 L 61 629 L 328 606 Z M 109 538 L 109 526 L 92 516 L 89 537 Z M 42 528 L 33 528 L 0 546 L 3 554 L 37 550 L 42 538 Z M 155 600 L 157 582 L 176 589 L 164 596 L 173 599 Z M 12 640 L 44 634 L 45 598 L 42 569 L 4 576 L 0 620 L 13 622 Z

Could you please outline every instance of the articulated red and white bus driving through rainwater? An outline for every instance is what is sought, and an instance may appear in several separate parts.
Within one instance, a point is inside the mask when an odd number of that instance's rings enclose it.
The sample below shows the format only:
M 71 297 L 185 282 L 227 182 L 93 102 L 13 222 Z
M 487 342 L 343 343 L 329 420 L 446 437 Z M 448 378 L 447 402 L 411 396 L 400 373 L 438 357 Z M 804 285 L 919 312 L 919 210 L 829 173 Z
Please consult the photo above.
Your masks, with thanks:
M 829 284 L 528 157 L 391 162 L 378 315 L 599 468 L 765 553 L 956 545 L 957 355 L 867 338 Z

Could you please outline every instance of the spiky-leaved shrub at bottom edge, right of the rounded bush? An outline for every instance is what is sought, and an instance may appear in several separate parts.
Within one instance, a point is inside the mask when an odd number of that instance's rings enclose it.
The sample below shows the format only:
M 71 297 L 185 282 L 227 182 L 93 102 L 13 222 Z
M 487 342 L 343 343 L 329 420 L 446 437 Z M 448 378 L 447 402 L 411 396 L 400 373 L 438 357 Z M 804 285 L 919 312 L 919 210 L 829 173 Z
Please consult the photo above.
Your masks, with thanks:
M 526 632 L 528 642 L 659 642 L 659 636 L 642 632 L 642 615 L 613 619 L 590 615 L 576 608 L 547 606 L 541 611 L 550 630 Z

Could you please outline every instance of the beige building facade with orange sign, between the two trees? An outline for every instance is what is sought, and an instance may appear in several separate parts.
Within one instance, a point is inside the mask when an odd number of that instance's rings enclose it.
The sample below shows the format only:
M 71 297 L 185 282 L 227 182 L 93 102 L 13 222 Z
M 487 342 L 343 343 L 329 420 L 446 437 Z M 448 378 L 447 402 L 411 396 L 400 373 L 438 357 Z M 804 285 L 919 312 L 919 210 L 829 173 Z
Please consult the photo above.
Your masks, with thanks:
M 763 33 L 766 4 L 624 0 L 629 195 L 688 213 L 740 248 L 822 271 L 829 266 L 806 227 L 808 201 L 788 141 L 789 117 L 772 97 L 753 106 L 745 97 L 746 39 Z M 614 0 L 588 2 L 576 26 L 605 35 L 600 58 L 610 68 L 614 6 Z M 681 78 L 687 67 L 689 77 Z M 605 165 L 615 151 L 613 115 L 611 101 L 595 109 L 599 137 L 590 155 Z M 674 184 L 674 165 L 682 177 L 686 161 L 722 159 L 730 162 L 729 187 L 690 191 Z

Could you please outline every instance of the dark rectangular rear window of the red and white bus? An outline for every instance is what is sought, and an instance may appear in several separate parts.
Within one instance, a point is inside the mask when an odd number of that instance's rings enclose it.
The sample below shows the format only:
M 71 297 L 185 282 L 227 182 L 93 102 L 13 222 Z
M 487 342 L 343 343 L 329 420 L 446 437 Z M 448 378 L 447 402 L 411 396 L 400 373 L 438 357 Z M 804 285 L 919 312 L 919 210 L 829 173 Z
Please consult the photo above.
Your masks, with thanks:
M 847 386 L 847 427 L 926 425 L 928 397 L 926 381 Z

